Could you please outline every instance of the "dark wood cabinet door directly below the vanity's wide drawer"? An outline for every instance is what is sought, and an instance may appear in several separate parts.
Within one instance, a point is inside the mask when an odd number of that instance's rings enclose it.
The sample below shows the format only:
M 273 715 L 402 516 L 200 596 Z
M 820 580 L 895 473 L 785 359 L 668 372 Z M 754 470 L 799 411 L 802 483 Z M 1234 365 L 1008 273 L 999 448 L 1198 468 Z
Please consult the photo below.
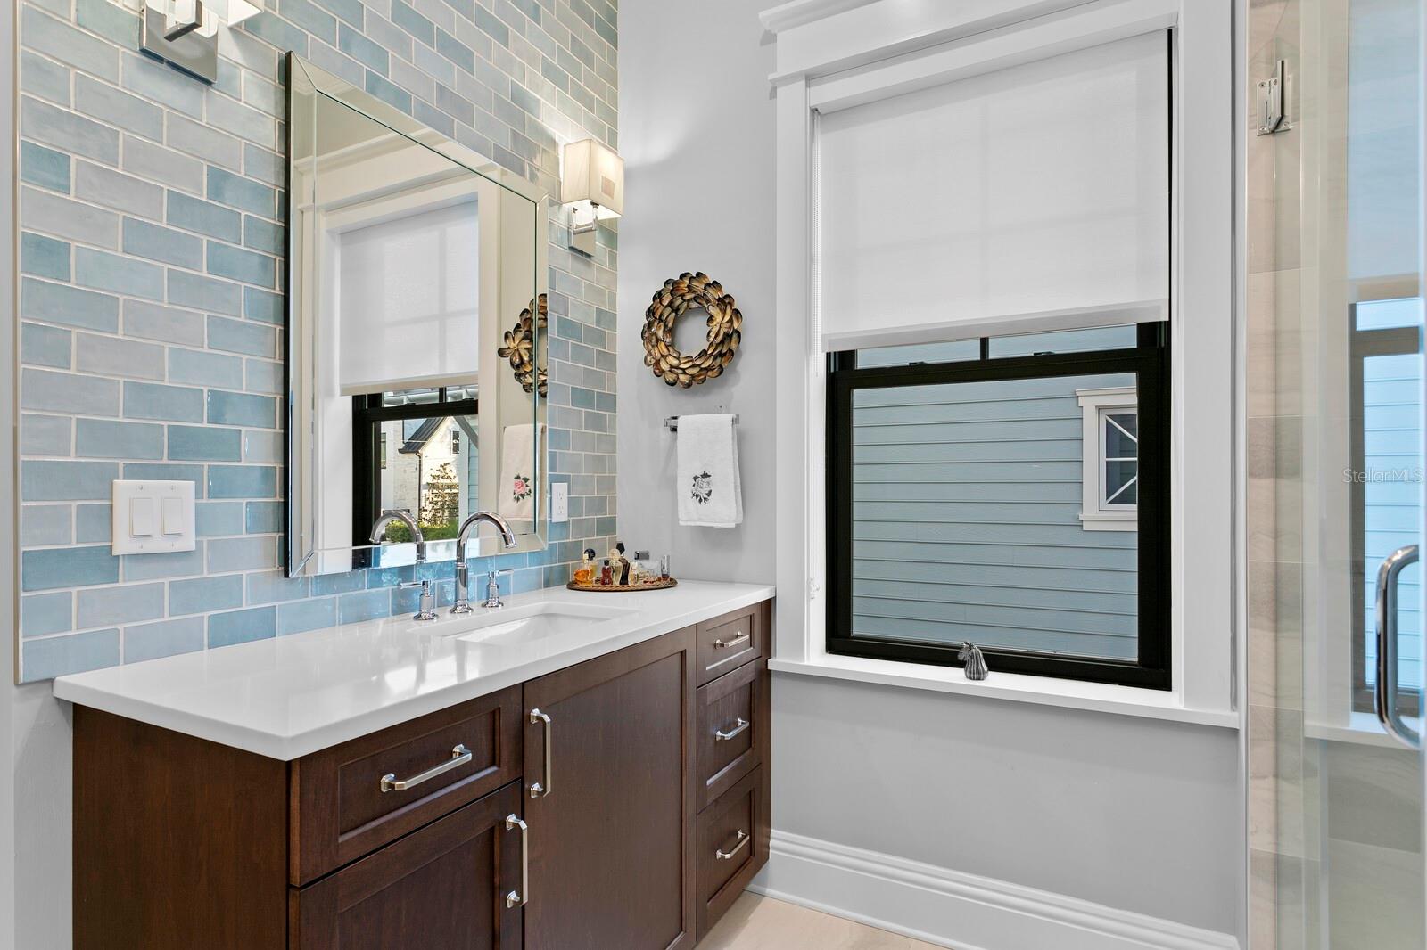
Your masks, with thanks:
M 291 950 L 521 950 L 512 782 L 290 894 Z M 512 896 L 514 894 L 514 896 Z

